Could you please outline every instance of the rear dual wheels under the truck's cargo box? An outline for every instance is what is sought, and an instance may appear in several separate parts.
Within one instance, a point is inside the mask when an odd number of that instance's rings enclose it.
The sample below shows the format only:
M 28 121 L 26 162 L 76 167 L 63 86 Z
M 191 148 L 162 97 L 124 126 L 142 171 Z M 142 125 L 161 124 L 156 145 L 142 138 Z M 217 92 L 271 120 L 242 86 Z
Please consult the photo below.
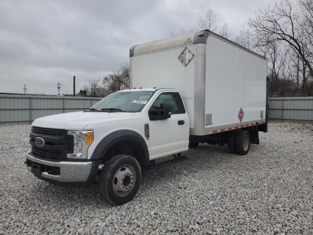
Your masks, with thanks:
M 246 155 L 250 149 L 250 134 L 246 130 L 232 131 L 227 138 L 227 146 L 230 153 Z

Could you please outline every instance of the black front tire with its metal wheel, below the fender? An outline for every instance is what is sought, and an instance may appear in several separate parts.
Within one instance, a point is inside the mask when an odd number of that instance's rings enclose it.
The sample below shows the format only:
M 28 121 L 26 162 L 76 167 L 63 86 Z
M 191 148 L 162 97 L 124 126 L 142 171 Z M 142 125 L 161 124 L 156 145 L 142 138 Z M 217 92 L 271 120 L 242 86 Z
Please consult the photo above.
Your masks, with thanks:
M 99 177 L 99 192 L 102 199 L 113 205 L 122 205 L 131 201 L 141 182 L 141 167 L 138 161 L 129 155 L 112 157 L 105 164 Z

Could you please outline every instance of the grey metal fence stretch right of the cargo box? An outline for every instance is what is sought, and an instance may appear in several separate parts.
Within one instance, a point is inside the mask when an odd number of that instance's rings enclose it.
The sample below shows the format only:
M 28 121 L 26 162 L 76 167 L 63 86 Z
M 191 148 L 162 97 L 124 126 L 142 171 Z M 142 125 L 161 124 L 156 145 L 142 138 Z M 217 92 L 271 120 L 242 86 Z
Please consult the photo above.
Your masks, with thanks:
M 277 97 L 268 99 L 268 118 L 313 122 L 313 97 Z

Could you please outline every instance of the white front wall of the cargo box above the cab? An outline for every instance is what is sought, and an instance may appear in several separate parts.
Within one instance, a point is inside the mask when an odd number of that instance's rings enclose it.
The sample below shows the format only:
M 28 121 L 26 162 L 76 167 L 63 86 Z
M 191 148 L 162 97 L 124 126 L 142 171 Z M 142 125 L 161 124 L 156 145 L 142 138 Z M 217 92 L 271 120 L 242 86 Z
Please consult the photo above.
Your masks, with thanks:
M 195 55 L 187 66 L 179 61 L 185 47 L 134 55 L 131 57 L 133 87 L 175 88 L 179 90 L 193 128 L 196 45 L 187 46 Z

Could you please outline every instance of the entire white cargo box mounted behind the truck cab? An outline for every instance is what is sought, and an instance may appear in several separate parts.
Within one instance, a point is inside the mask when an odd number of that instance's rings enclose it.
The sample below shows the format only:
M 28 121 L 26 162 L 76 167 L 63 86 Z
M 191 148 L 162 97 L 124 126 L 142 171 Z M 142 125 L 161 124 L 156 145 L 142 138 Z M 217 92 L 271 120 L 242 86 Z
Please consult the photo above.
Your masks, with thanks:
M 179 90 L 190 135 L 265 123 L 267 60 L 209 30 L 130 49 L 132 87 Z

